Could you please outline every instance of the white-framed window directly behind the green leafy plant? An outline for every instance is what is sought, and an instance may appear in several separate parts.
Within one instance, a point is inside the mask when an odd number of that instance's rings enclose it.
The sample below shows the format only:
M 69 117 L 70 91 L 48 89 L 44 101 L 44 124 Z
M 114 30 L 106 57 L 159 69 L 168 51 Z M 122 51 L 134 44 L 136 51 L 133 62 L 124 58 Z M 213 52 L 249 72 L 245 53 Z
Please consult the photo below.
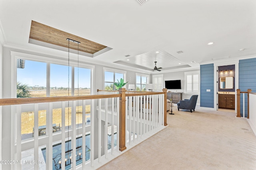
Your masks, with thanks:
M 104 68 L 104 90 L 116 90 L 114 82 L 117 83 L 121 78 L 125 80 L 125 75 L 125 71 Z

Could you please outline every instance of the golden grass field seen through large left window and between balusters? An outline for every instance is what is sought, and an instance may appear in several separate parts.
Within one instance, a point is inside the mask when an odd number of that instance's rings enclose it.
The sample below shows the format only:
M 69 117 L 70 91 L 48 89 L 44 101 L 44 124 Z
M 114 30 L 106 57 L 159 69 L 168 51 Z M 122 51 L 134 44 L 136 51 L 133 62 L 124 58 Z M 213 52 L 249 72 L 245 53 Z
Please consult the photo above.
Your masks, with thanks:
M 68 90 L 51 90 L 52 96 L 68 96 Z M 70 92 L 71 93 L 71 92 Z M 31 97 L 45 97 L 46 90 L 30 91 Z M 75 94 L 78 92 L 75 90 Z M 79 96 L 90 95 L 90 89 L 79 90 Z M 86 118 L 90 117 L 90 105 L 85 106 Z M 69 116 L 69 118 L 68 118 Z M 61 124 L 62 109 L 53 109 L 52 123 L 63 127 Z M 68 121 L 69 119 L 69 121 Z M 86 119 L 85 119 L 86 120 Z M 76 107 L 76 124 L 82 123 L 82 106 Z M 38 111 L 38 125 L 46 125 L 46 110 Z M 71 108 L 65 108 L 65 126 L 71 125 Z M 34 127 L 34 111 L 23 112 L 21 114 L 21 134 L 32 133 Z

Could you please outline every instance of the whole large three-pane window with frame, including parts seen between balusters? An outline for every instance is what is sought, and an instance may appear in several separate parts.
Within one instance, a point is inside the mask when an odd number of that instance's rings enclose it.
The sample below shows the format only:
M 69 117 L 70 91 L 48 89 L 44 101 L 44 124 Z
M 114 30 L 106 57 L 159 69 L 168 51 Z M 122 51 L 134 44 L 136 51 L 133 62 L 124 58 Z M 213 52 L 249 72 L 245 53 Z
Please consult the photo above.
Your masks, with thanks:
M 16 57 L 18 56 L 18 57 Z M 50 96 L 81 96 L 91 94 L 92 72 L 94 66 L 52 59 L 48 57 L 12 52 L 13 72 L 12 79 L 17 85 L 17 98 L 50 97 Z M 15 65 L 14 65 L 15 64 Z M 15 69 L 15 70 L 14 70 Z M 15 87 L 14 86 L 14 87 Z M 13 87 L 13 89 L 14 89 Z M 15 92 L 15 90 L 14 90 Z M 86 124 L 90 123 L 90 102 L 86 106 L 76 106 L 76 125 L 82 125 L 82 109 L 85 107 Z M 71 123 L 71 110 L 65 108 L 65 124 L 62 125 L 62 108 L 52 109 L 53 133 L 60 132 L 61 128 L 68 128 Z M 47 124 L 47 111 L 38 111 L 38 135 L 46 135 L 44 126 Z M 69 119 L 69 121 L 68 121 Z M 34 111 L 21 113 L 22 140 L 34 137 Z

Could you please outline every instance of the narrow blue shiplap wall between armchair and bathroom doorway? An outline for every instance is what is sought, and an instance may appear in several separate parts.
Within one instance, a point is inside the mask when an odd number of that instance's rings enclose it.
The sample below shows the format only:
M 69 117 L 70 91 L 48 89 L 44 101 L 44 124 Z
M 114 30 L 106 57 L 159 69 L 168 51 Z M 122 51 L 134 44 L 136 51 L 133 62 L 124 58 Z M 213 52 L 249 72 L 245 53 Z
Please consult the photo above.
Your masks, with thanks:
M 206 92 L 210 89 L 210 92 Z M 200 65 L 200 107 L 214 108 L 214 65 Z

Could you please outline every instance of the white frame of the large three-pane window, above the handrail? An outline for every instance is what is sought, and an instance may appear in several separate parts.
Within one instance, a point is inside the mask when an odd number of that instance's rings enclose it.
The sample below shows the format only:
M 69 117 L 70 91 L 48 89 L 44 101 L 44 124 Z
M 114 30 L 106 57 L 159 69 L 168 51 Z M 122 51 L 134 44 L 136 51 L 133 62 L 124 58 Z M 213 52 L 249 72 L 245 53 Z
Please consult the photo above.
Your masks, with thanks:
M 24 59 L 24 60 L 30 60 L 30 61 L 36 61 L 36 62 L 42 62 L 46 63 L 46 97 L 50 97 L 50 64 L 60 64 L 64 66 L 68 66 L 68 61 L 64 59 L 56 59 L 54 56 L 45 57 L 40 55 L 32 55 L 28 53 L 20 53 L 16 51 L 11 51 L 11 60 L 12 60 L 12 66 L 11 66 L 11 75 L 12 75 L 12 83 L 11 84 L 11 98 L 17 98 L 17 59 Z M 91 84 L 90 84 L 90 94 L 92 95 L 94 92 L 94 65 L 86 64 L 84 62 L 79 61 L 79 65 L 77 61 L 69 61 L 69 66 L 72 67 L 72 75 L 74 75 L 74 67 L 80 67 L 80 68 L 88 68 L 91 70 L 90 78 L 91 78 Z M 72 78 L 71 83 L 74 84 L 74 78 Z M 74 86 L 72 86 L 72 95 L 74 95 Z

